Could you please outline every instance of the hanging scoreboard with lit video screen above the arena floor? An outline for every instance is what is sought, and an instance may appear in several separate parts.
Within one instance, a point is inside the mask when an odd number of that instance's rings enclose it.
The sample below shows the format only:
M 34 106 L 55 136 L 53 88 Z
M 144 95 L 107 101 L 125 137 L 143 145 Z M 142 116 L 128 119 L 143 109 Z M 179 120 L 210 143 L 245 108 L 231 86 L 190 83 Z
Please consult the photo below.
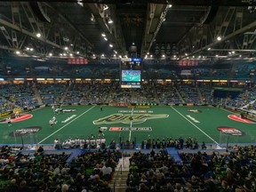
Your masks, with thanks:
M 140 58 L 124 58 L 120 64 L 121 88 L 141 87 L 142 60 Z

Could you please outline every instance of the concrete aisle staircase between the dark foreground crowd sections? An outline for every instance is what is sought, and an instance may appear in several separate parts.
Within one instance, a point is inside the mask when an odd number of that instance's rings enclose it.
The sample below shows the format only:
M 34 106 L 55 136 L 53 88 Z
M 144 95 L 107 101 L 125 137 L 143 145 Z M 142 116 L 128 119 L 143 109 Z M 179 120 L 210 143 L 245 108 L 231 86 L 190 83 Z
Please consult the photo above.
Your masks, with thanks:
M 130 157 L 123 156 L 119 160 L 119 163 L 116 166 L 118 170 L 119 170 L 120 166 L 122 168 L 120 168 L 119 172 L 116 169 L 113 179 L 109 183 L 113 192 L 125 192 L 125 190 L 126 190 L 126 180 L 128 178 L 129 165 L 130 165 L 129 158 Z M 122 169 L 122 171 L 121 171 L 121 169 Z

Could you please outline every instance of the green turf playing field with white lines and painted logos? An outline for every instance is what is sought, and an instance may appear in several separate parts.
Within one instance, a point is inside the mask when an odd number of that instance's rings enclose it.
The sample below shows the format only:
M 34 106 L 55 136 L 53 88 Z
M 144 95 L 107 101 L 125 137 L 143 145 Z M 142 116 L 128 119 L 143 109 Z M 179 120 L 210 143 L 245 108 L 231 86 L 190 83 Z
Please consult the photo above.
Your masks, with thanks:
M 212 107 L 151 107 L 151 108 L 116 108 L 100 106 L 65 106 L 63 109 L 75 109 L 57 117 L 58 124 L 50 127 L 53 116 L 52 108 L 39 108 L 29 114 L 27 120 L 0 124 L 1 144 L 52 144 L 54 139 L 60 141 L 72 138 L 86 139 L 92 133 L 98 135 L 99 127 L 107 127 L 104 132 L 107 143 L 119 138 L 122 140 L 147 140 L 148 137 L 163 139 L 196 137 L 198 142 L 219 143 L 255 143 L 256 124 L 237 122 L 229 119 L 232 112 Z M 190 111 L 188 111 L 190 110 Z M 192 111 L 191 111 L 192 110 Z M 65 122 L 64 122 L 65 121 Z M 62 122 L 62 123 L 61 123 Z M 236 128 L 233 134 L 217 130 Z M 28 129 L 27 129 L 28 128 Z M 28 133 L 29 129 L 37 132 Z M 132 131 L 131 131 L 132 128 Z M 12 132 L 23 129 L 28 131 L 22 136 L 13 136 Z M 111 131 L 110 131 L 111 130 Z M 232 133 L 232 132 L 231 132 Z

